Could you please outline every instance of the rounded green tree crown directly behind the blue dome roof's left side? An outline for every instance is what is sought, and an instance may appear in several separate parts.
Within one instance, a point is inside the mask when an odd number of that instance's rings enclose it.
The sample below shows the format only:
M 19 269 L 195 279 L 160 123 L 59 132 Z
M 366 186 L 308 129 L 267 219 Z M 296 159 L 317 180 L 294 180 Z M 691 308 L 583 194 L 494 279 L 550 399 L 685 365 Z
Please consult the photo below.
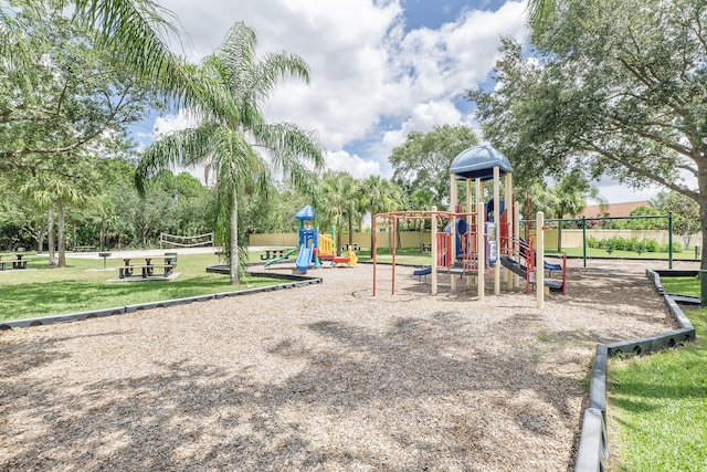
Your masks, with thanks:
M 450 197 L 450 165 L 464 149 L 478 145 L 474 130 L 462 125 L 435 126 L 429 133 L 412 132 L 405 143 L 395 147 L 388 158 L 393 168 L 393 181 L 407 193 L 426 188 L 435 203 Z

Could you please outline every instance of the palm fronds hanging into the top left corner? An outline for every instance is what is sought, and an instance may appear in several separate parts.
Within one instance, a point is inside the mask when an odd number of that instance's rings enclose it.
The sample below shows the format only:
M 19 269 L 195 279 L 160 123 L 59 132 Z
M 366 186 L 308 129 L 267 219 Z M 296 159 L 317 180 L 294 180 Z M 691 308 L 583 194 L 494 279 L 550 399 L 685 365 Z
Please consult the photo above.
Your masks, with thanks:
M 0 3 L 0 56 L 28 98 L 40 81 L 29 25 L 18 20 L 14 9 L 39 18 L 49 11 L 72 12 L 81 27 L 95 32 L 96 46 L 109 48 L 114 61 L 129 67 L 135 77 L 151 85 L 156 96 L 173 106 L 207 104 L 202 113 L 224 118 L 234 113 L 233 102 L 220 101 L 208 83 L 194 80 L 193 65 L 175 54 L 170 42 L 188 42 L 177 15 L 155 0 L 14 0 Z M 172 41 L 170 41 L 172 40 Z M 46 40 L 49 41 L 49 40 Z

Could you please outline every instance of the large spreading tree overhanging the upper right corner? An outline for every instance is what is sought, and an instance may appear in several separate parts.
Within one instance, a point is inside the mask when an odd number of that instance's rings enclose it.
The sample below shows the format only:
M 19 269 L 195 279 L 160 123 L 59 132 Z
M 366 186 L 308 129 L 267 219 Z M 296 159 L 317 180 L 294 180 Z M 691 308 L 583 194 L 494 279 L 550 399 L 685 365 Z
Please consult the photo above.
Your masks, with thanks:
M 566 0 L 534 35 L 538 59 L 505 40 L 498 86 L 469 98 L 514 170 L 658 183 L 698 203 L 707 238 L 705 24 L 703 0 Z

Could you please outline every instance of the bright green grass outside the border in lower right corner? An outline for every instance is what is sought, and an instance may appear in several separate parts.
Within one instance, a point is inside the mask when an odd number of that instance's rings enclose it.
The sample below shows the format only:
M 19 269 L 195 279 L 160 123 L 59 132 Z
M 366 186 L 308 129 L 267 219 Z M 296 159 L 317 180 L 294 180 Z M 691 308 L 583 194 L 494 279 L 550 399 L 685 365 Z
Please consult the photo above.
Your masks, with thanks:
M 698 336 L 707 310 L 688 313 Z M 619 433 L 616 471 L 707 470 L 707 349 L 704 343 L 629 360 L 612 359 L 608 417 Z

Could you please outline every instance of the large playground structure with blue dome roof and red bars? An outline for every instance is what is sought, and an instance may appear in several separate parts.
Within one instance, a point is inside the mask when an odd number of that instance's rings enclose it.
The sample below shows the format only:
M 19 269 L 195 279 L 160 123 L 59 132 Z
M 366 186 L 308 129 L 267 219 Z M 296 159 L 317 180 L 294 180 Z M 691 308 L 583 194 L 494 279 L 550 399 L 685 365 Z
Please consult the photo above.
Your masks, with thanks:
M 484 300 L 485 276 L 493 274 L 494 293 L 500 293 L 500 268 L 506 272 L 509 289 L 519 286 L 525 280 L 526 293 L 534 285 L 538 307 L 542 307 L 546 287 L 564 294 L 567 261 L 550 264 L 545 261 L 544 216 L 537 214 L 536 234 L 528 241 L 520 239 L 519 207 L 513 193 L 513 169 L 508 159 L 490 146 L 476 146 L 461 153 L 450 167 L 451 211 L 400 211 L 380 213 L 374 217 L 392 223 L 393 261 L 392 293 L 395 292 L 395 234 L 401 219 L 430 219 L 432 225 L 431 251 L 433 263 L 414 272 L 431 275 L 432 294 L 437 293 L 439 273 L 449 273 L 451 289 L 457 290 L 460 279 L 466 284 L 476 281 L 477 296 Z M 500 179 L 504 179 L 504 200 L 500 199 Z M 493 182 L 493 198 L 484 201 L 485 182 Z M 465 186 L 466 201 L 458 203 L 458 185 Z M 505 208 L 505 202 L 515 202 Z M 445 231 L 439 231 L 440 220 L 447 220 Z M 376 224 L 373 224 L 376 227 Z M 377 265 L 376 235 L 373 237 L 373 265 Z M 537 270 L 537 268 L 544 268 Z M 545 270 L 561 272 L 562 279 L 545 279 Z M 373 295 L 376 295 L 376 271 L 373 271 Z

